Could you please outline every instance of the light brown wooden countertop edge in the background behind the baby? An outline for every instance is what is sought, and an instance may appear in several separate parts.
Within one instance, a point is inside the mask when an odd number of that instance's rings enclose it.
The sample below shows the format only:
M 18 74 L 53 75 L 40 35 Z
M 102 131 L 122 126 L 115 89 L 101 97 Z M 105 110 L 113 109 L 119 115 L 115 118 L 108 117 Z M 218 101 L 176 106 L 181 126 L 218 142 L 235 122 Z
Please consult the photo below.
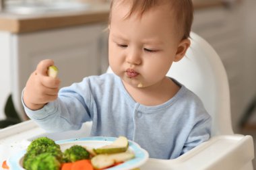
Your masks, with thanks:
M 193 3 L 195 10 L 222 6 L 224 4 L 222 0 L 193 0 Z M 0 31 L 21 34 L 67 26 L 107 22 L 108 12 L 109 3 L 106 2 L 92 3 L 90 8 L 84 11 L 58 11 L 33 15 L 0 12 Z

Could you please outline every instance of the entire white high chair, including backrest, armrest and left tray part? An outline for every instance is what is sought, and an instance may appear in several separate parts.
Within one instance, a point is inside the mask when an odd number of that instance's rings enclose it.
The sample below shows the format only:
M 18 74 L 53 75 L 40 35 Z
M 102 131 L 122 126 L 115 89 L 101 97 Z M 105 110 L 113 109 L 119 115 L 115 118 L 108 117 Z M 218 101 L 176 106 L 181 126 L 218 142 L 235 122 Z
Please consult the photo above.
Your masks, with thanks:
M 110 69 L 107 71 L 111 72 Z M 149 159 L 141 170 L 253 170 L 253 138 L 234 134 L 230 119 L 230 95 L 226 71 L 215 50 L 197 34 L 191 33 L 186 56 L 174 62 L 169 77 L 177 79 L 196 93 L 212 116 L 212 137 L 177 159 Z M 46 133 L 28 120 L 0 130 L 0 161 L 24 148 L 23 142 L 39 136 L 53 140 L 89 136 L 92 122 L 80 130 Z M 164 135 L 164 134 L 163 134 Z

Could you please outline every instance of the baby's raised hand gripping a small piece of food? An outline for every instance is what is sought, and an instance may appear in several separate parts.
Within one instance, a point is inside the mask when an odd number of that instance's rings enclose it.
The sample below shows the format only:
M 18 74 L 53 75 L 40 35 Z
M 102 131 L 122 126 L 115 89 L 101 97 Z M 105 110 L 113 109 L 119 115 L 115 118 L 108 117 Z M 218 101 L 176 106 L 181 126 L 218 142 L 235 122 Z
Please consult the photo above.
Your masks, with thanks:
M 31 110 L 39 110 L 58 97 L 60 80 L 48 75 L 48 69 L 53 65 L 53 60 L 42 60 L 26 83 L 23 100 Z

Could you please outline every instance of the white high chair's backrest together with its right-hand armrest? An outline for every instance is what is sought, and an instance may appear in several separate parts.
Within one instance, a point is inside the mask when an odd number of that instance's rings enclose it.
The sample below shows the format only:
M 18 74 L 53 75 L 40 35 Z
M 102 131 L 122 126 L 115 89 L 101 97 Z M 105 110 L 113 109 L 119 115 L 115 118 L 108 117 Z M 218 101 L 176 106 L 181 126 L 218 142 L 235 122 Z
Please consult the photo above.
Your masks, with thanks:
M 108 68 L 107 72 L 112 71 Z M 228 78 L 212 46 L 192 32 L 191 47 L 181 61 L 172 64 L 167 76 L 183 83 L 203 101 L 205 109 L 212 116 L 212 138 L 177 159 L 150 159 L 143 167 L 253 170 L 253 138 L 234 134 L 232 130 Z

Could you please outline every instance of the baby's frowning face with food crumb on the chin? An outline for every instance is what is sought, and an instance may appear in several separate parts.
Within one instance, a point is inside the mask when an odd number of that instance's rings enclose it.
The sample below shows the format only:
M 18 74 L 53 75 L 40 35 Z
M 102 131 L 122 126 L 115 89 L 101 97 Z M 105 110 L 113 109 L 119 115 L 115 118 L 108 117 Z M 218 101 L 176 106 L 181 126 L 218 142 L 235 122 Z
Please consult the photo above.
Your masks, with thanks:
M 180 38 L 168 5 L 138 17 L 129 13 L 128 3 L 113 5 L 109 34 L 109 63 L 114 73 L 133 87 L 161 83 L 177 60 Z

